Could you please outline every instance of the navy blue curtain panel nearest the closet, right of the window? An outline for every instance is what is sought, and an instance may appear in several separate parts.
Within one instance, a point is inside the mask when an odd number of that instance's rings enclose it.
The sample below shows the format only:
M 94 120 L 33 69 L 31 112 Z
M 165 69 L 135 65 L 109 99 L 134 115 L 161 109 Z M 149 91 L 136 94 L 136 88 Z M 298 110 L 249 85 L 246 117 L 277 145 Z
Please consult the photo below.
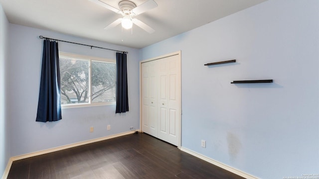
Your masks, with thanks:
M 126 53 L 116 53 L 116 111 L 129 111 Z

